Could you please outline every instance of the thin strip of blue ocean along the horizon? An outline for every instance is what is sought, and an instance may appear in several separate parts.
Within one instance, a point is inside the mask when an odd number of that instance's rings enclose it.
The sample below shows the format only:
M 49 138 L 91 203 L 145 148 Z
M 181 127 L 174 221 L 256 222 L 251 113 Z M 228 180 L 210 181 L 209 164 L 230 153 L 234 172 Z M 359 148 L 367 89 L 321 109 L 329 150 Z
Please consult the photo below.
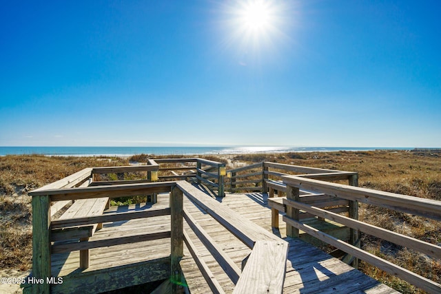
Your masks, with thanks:
M 410 150 L 407 147 L 0 147 L 0 156 L 41 154 L 46 156 L 132 156 L 251 154 L 311 151 L 369 151 L 377 149 Z

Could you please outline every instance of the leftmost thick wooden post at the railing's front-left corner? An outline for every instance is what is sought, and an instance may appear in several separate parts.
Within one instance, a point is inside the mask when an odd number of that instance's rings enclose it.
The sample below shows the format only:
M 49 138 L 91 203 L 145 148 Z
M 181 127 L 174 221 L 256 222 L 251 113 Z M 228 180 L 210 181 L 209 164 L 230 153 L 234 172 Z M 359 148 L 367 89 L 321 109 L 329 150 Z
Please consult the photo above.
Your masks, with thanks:
M 50 293 L 50 197 L 32 196 L 32 293 Z

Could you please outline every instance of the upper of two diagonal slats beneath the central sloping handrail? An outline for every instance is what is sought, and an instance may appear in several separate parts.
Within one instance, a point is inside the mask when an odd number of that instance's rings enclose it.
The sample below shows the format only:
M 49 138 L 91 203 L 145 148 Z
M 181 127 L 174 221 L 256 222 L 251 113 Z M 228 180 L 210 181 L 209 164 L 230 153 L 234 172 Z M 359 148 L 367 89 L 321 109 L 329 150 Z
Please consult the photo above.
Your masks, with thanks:
M 227 273 L 228 277 L 234 284 L 237 283 L 240 276 L 240 269 L 234 264 L 231 258 L 226 255 L 216 242 L 207 234 L 207 232 L 199 225 L 192 215 L 184 209 L 184 218 L 187 224 L 194 231 L 196 236 L 207 247 L 208 251 L 212 253 L 214 259 L 218 262 L 220 267 Z

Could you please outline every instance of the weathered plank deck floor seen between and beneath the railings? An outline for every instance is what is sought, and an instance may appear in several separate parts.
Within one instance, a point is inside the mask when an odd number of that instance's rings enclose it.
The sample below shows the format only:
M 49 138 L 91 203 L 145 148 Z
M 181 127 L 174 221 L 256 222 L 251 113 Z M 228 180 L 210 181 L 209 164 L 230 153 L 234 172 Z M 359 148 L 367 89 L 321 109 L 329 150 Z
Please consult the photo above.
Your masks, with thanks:
M 207 196 L 209 197 L 209 196 Z M 240 213 L 252 220 L 260 227 L 271 231 L 271 209 L 267 205 L 267 195 L 262 193 L 227 194 L 225 198 L 218 198 L 220 205 Z M 116 211 L 145 210 L 151 207 L 162 209 L 169 207 L 169 196 L 159 194 L 158 202 L 154 205 L 132 205 L 130 207 L 111 207 L 105 213 Z M 251 253 L 245 244 L 240 242 L 232 233 L 223 228 L 216 220 L 202 209 L 184 197 L 184 207 L 200 224 L 212 239 L 223 249 L 239 268 L 243 260 Z M 232 293 L 234 284 L 223 269 L 209 254 L 205 246 L 196 238 L 193 231 L 184 223 L 184 229 L 192 237 L 199 255 L 205 260 L 216 280 L 223 287 L 225 293 Z M 101 240 L 110 236 L 136 235 L 170 230 L 170 216 L 159 216 L 148 219 L 112 222 L 103 224 L 103 229 L 96 231 L 91 241 Z M 351 266 L 340 262 L 336 258 L 323 253 L 300 239 L 286 238 L 285 223 L 280 216 L 280 231 L 274 232 L 289 242 L 287 272 L 284 284 L 284 293 L 395 293 L 393 289 L 380 284 L 356 271 Z M 204 278 L 196 263 L 184 246 L 184 257 L 181 268 L 190 293 L 210 293 Z M 163 260 L 170 260 L 170 238 L 161 240 L 137 242 L 109 246 L 99 249 L 90 249 L 90 267 L 79 269 L 79 251 L 69 254 L 52 254 L 52 276 L 63 277 L 63 284 L 52 285 L 53 293 L 76 293 L 87 291 L 105 291 L 105 283 L 118 283 L 119 279 L 130 278 L 131 271 L 143 271 L 152 266 L 155 271 L 166 275 L 170 267 L 164 266 Z M 81 279 L 86 275 L 97 276 L 96 273 L 107 273 L 105 280 L 96 280 L 94 286 L 88 286 L 87 291 L 82 287 Z M 142 281 L 133 284 L 150 282 L 147 271 Z

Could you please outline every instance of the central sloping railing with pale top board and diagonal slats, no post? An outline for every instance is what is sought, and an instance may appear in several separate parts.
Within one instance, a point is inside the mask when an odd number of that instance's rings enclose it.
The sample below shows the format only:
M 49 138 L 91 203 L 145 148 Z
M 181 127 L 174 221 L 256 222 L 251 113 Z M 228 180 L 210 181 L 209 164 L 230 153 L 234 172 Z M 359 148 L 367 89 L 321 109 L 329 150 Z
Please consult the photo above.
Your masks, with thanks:
M 184 218 L 196 237 L 201 240 L 216 262 L 222 267 L 229 279 L 236 285 L 233 293 L 282 293 L 289 246 L 287 242 L 259 227 L 254 222 L 234 213 L 228 207 L 209 198 L 187 182 L 178 182 L 177 187 L 185 196 L 252 249 L 243 267 L 238 266 L 220 249 L 204 229 L 184 210 Z M 184 242 L 194 258 L 199 270 L 213 293 L 224 293 L 222 287 L 201 258 L 196 246 L 187 233 Z M 256 279 L 256 277 L 259 277 Z

